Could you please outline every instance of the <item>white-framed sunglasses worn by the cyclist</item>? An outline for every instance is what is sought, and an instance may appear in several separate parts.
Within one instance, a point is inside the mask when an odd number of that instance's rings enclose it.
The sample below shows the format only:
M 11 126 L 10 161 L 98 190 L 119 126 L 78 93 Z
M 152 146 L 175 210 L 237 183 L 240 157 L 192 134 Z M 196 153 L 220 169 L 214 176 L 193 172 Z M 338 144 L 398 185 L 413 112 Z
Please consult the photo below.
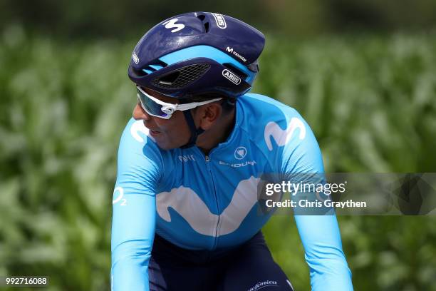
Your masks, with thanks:
M 136 86 L 136 90 L 137 90 L 137 98 L 140 101 L 142 109 L 144 109 L 144 111 L 147 112 L 147 114 L 150 116 L 156 116 L 163 119 L 170 119 L 172 113 L 174 113 L 176 110 L 180 110 L 180 111 L 190 110 L 192 108 L 196 108 L 198 106 L 202 106 L 204 104 L 212 103 L 214 101 L 219 101 L 222 99 L 222 98 L 214 98 L 202 102 L 173 104 L 173 103 L 166 103 L 164 101 L 160 101 L 159 99 L 143 91 L 140 86 Z

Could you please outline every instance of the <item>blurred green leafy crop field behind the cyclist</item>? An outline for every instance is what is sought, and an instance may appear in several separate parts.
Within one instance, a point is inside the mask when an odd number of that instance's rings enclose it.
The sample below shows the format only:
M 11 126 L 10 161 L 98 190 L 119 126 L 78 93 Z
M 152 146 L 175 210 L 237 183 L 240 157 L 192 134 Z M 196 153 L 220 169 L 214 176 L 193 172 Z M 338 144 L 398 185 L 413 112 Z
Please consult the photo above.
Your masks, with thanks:
M 434 35 L 267 35 L 254 92 L 293 106 L 328 172 L 436 172 Z M 135 39 L 0 35 L 0 274 L 48 290 L 108 290 L 120 133 L 135 105 Z M 355 290 L 436 290 L 436 219 L 340 217 Z M 293 218 L 264 229 L 296 290 L 309 290 Z M 24 289 L 22 289 L 24 290 Z

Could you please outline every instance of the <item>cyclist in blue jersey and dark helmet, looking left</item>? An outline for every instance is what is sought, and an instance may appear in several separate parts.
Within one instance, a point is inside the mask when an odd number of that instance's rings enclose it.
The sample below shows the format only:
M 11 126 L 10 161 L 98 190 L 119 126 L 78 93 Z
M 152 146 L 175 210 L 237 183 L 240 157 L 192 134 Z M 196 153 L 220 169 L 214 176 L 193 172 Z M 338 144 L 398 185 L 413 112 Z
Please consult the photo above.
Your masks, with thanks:
M 222 14 L 162 21 L 137 43 L 118 150 L 113 290 L 293 290 L 261 234 L 265 173 L 323 173 L 293 108 L 247 93 L 264 35 Z M 335 215 L 295 215 L 312 290 L 353 290 Z M 289 247 L 294 247 L 289 245 Z

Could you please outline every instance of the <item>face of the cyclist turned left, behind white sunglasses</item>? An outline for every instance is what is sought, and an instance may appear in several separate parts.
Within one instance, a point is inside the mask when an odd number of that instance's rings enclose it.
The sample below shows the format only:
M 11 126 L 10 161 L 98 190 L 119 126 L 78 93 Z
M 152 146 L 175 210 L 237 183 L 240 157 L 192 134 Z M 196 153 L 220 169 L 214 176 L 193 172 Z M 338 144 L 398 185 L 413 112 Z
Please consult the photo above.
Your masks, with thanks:
M 162 94 L 148 89 L 144 90 L 161 101 L 167 103 L 178 103 L 175 98 L 163 96 Z M 150 130 L 150 136 L 155 138 L 157 146 L 162 148 L 162 150 L 180 148 L 190 140 L 190 128 L 185 121 L 185 116 L 182 111 L 175 111 L 175 113 L 172 113 L 170 119 L 158 118 L 150 116 L 145 112 L 138 101 L 135 109 L 133 109 L 133 118 L 137 121 L 142 120 L 144 122 L 145 127 Z

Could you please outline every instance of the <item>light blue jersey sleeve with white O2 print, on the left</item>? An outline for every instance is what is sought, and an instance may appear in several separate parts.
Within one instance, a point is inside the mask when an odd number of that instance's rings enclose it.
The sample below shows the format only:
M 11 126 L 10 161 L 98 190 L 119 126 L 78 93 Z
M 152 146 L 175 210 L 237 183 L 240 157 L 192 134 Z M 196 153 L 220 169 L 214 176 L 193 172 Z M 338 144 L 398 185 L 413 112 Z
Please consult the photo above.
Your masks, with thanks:
M 142 121 L 130 120 L 118 148 L 113 192 L 111 290 L 149 290 L 148 262 L 155 235 L 159 150 Z

